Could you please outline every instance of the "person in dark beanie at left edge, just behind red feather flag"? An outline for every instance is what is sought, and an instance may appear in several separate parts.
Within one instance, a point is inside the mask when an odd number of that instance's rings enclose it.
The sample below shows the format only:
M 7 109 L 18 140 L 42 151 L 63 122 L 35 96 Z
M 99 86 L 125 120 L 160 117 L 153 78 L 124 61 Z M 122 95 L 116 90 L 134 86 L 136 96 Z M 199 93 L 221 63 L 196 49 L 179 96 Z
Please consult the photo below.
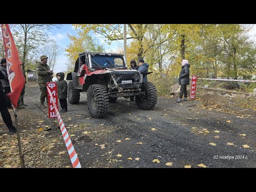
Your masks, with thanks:
M 8 74 L 7 74 L 7 62 L 6 59 L 2 59 L 0 62 L 0 69 L 2 70 L 3 74 L 4 74 L 4 78 L 1 80 L 2 81 L 2 85 L 4 88 L 4 92 L 5 94 L 10 93 L 11 92 L 11 87 L 10 87 L 10 83 L 9 83 L 9 79 L 8 79 Z M 10 110 L 12 109 L 12 103 L 9 99 L 9 97 L 6 97 L 6 102 L 7 102 L 7 108 Z

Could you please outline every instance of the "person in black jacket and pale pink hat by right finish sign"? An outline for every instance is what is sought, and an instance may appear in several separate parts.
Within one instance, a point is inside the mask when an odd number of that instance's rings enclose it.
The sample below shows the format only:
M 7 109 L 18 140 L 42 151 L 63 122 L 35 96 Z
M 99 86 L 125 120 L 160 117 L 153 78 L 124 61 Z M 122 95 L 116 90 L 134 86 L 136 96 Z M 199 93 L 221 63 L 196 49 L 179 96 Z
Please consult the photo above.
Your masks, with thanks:
M 184 94 L 183 101 L 187 101 L 188 92 L 187 85 L 189 85 L 189 63 L 188 60 L 183 59 L 181 62 L 181 71 L 179 76 L 179 85 L 180 86 L 180 97 L 176 100 L 176 102 L 181 102 L 182 96 Z

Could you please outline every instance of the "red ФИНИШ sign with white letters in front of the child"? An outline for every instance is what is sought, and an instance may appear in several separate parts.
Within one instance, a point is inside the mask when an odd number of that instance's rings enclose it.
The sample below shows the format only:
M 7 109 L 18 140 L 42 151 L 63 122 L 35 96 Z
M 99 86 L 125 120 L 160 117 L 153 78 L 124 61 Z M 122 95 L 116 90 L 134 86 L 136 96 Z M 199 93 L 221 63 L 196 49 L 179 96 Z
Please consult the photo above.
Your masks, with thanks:
M 58 106 L 58 95 L 57 95 L 57 83 L 56 82 L 47 82 L 46 86 L 50 89 L 53 101 L 55 105 L 57 106 L 57 109 L 59 110 Z M 53 102 L 51 100 L 50 94 L 47 91 L 47 101 L 48 101 L 48 111 L 49 111 L 49 118 L 57 118 L 57 114 L 54 109 Z

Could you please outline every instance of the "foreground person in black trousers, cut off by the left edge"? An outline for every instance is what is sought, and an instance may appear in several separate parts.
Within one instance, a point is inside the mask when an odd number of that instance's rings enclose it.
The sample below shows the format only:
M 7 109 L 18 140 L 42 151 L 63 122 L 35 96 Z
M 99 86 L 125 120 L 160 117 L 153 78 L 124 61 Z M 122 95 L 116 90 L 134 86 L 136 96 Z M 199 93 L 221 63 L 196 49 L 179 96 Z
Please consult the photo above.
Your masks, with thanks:
M 4 78 L 5 78 L 5 75 L 3 74 L 2 70 L 0 70 L 0 79 L 4 79 Z M 16 128 L 12 124 L 12 118 L 7 108 L 6 97 L 5 97 L 2 81 L 0 81 L 0 112 L 5 125 L 9 129 L 9 134 L 15 134 Z

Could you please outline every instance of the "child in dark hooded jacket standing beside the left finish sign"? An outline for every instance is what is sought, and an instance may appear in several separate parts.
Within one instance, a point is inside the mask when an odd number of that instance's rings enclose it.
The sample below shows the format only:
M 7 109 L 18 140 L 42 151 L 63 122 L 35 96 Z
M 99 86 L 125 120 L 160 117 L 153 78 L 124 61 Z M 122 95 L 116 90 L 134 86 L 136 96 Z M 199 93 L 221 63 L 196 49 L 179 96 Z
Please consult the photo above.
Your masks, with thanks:
M 65 74 L 60 72 L 57 73 L 57 88 L 58 88 L 58 98 L 60 101 L 61 111 L 60 112 L 67 112 L 68 110 L 68 104 L 67 104 L 67 95 L 68 95 L 68 84 L 64 80 Z

